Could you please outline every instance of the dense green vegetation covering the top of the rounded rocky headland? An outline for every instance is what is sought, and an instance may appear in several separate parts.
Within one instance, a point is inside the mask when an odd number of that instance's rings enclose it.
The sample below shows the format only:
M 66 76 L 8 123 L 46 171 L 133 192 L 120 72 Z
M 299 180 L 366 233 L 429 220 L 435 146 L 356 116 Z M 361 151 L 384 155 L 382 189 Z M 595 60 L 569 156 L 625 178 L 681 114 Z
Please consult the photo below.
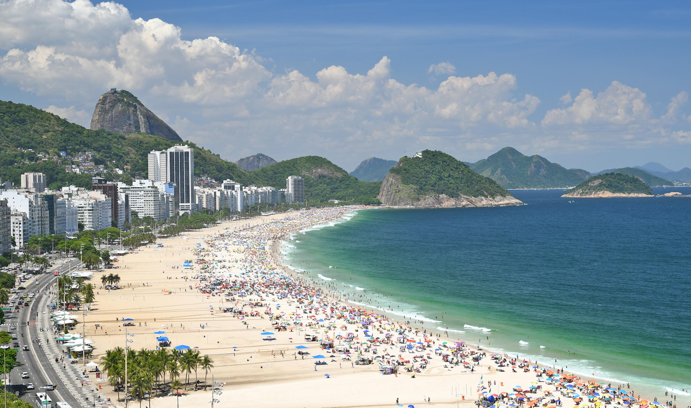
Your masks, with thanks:
M 390 173 L 401 177 L 401 185 L 415 186 L 415 194 L 419 196 L 511 196 L 493 179 L 475 173 L 463 162 L 439 150 L 423 150 L 422 157 L 402 157 Z

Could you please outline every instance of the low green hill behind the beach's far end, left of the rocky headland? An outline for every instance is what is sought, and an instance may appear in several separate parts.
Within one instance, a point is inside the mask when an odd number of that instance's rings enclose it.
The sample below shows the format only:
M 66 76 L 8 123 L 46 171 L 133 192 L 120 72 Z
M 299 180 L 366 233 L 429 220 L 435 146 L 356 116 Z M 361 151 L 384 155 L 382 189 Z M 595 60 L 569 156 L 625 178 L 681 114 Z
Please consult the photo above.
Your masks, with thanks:
M 362 182 L 348 172 L 319 156 L 284 160 L 249 172 L 254 184 L 285 188 L 285 179 L 299 175 L 305 179 L 305 200 L 349 200 L 361 204 L 378 204 L 381 182 Z

